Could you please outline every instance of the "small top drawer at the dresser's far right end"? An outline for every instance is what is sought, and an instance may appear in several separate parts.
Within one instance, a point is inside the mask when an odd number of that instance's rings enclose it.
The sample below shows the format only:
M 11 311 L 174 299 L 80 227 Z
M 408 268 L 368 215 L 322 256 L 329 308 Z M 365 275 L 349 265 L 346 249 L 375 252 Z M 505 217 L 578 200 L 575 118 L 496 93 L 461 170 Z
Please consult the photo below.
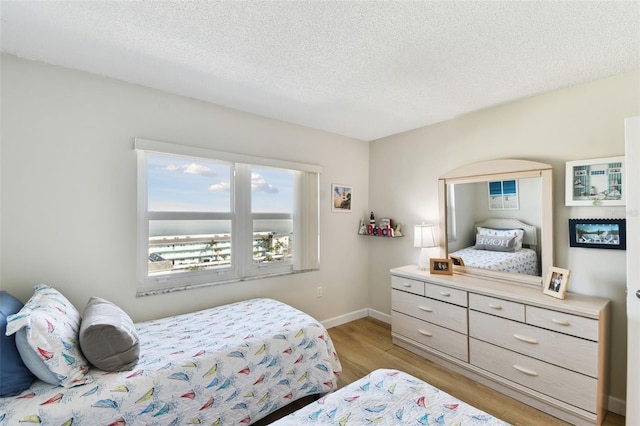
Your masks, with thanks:
M 527 324 L 598 341 L 598 320 L 527 306 Z

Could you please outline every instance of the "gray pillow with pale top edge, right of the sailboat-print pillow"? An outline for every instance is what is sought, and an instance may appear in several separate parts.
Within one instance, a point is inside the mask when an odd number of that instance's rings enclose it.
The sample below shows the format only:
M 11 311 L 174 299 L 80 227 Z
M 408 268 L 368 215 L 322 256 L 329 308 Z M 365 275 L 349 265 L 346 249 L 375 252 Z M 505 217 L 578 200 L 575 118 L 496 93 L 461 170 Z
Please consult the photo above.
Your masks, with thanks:
M 80 348 L 85 358 L 104 371 L 131 370 L 140 357 L 133 321 L 115 304 L 91 297 L 80 325 Z

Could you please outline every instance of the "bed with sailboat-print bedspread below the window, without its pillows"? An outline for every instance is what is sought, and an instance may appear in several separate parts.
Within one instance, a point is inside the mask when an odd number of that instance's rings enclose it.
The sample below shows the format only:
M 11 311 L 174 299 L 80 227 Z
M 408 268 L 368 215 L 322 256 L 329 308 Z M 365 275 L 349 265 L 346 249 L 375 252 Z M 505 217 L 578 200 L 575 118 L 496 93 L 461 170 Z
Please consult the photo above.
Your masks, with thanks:
M 36 380 L 0 398 L 0 424 L 251 424 L 337 387 L 340 361 L 326 329 L 271 299 L 135 324 L 132 369 L 91 368 L 81 386 Z

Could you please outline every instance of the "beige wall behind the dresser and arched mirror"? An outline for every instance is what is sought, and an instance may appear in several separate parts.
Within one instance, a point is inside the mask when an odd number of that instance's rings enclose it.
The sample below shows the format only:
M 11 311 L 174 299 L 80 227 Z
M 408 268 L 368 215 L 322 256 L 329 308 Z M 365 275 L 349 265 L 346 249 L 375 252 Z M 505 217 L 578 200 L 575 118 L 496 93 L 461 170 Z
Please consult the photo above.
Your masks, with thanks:
M 371 208 L 407 228 L 438 221 L 437 179 L 450 169 L 496 158 L 554 167 L 555 265 L 572 270 L 570 291 L 613 302 L 611 395 L 619 399 L 626 383 L 625 252 L 569 248 L 567 220 L 620 218 L 624 207 L 565 207 L 564 166 L 624 155 L 624 118 L 639 112 L 640 73 L 632 72 L 394 135 L 370 148 Z M 370 245 L 373 309 L 390 312 L 389 268 L 417 263 L 418 256 L 411 238 Z

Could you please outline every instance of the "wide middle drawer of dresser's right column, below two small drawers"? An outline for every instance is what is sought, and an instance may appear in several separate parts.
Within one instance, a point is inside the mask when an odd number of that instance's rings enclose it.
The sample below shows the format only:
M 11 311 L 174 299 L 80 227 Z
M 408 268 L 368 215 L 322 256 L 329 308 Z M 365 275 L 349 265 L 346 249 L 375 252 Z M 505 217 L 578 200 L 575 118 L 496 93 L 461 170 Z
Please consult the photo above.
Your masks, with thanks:
M 598 344 L 480 312 L 469 312 L 469 336 L 503 348 L 598 376 Z

